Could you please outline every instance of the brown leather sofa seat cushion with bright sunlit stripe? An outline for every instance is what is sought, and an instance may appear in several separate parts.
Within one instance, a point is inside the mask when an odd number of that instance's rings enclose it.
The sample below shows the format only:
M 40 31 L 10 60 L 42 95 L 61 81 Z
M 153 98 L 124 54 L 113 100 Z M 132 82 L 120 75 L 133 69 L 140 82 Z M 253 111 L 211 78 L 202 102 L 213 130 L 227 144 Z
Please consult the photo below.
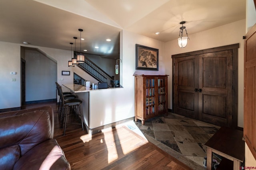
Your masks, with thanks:
M 65 164 L 64 164 L 65 162 Z M 14 170 L 66 170 L 70 164 L 55 139 L 44 141 L 24 154 Z

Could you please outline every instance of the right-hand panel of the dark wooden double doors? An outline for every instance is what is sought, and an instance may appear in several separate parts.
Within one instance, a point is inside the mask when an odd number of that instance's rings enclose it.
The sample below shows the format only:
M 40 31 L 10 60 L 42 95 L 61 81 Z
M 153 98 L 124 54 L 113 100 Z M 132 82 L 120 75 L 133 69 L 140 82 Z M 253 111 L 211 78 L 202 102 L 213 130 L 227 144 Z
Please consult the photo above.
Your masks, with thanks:
M 198 117 L 232 126 L 232 50 L 198 55 Z

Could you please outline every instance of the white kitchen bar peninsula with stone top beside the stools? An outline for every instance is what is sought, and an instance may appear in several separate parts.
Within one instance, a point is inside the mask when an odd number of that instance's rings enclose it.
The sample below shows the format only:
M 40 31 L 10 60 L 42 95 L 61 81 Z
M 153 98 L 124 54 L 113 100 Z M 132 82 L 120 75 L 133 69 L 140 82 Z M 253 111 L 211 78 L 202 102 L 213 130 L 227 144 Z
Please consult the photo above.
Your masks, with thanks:
M 126 114 L 133 109 L 125 98 L 125 88 L 93 89 L 78 84 L 62 84 L 82 100 L 82 119 L 89 134 L 100 132 L 106 127 L 134 120 Z

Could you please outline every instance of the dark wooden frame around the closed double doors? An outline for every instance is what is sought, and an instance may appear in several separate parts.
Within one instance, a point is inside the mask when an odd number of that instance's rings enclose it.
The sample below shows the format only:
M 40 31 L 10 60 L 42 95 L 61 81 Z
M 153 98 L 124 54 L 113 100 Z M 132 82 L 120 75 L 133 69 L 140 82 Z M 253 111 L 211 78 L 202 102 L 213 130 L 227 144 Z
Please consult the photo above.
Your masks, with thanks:
M 200 55 L 200 54 L 204 54 L 204 53 L 213 53 L 213 52 L 218 52 L 218 51 L 232 50 L 232 53 L 233 53 L 232 127 L 233 128 L 237 128 L 237 124 L 238 124 L 238 122 L 237 122 L 238 121 L 238 48 L 239 48 L 239 43 L 172 55 L 172 59 L 175 59 L 178 57 L 188 57 L 191 55 Z M 172 60 L 172 83 L 174 83 L 174 74 L 175 74 L 175 64 L 174 64 L 174 60 Z M 172 101 L 175 101 L 174 97 L 175 97 L 174 96 L 174 84 L 172 84 Z M 174 109 L 174 102 L 172 102 L 172 108 Z

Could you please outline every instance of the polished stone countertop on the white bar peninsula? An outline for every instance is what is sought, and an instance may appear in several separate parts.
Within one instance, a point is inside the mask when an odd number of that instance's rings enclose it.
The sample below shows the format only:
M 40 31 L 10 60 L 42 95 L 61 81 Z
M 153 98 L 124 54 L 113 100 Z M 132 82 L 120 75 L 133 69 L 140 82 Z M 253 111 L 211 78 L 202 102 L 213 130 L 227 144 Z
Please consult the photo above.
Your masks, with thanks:
M 62 84 L 66 88 L 70 89 L 74 93 L 82 93 L 82 92 L 93 92 L 93 91 L 98 91 L 98 90 L 111 90 L 111 89 L 119 89 L 122 87 L 111 87 L 111 88 L 105 88 L 105 89 L 94 89 L 90 87 L 85 87 L 79 84 Z

